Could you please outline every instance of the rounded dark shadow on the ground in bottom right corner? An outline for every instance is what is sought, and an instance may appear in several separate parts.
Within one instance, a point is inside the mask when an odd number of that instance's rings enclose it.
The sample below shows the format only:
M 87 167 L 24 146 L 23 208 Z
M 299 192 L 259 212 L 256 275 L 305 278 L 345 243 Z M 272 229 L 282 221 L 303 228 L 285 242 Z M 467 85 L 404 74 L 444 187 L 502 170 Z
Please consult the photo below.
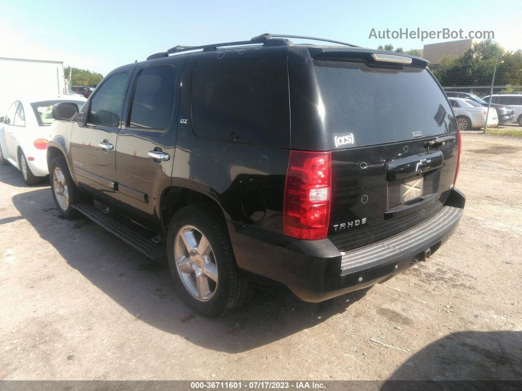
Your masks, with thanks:
M 395 381 L 424 380 L 416 389 L 512 389 L 509 384 L 437 384 L 438 381 L 522 380 L 522 331 L 460 331 L 438 339 L 410 357 L 389 377 L 382 390 L 395 390 Z M 406 382 L 410 383 L 410 382 Z M 426 382 L 428 383 L 428 382 Z M 407 385 L 407 384 L 406 384 Z M 408 387 L 407 387 L 408 388 Z M 412 389 L 412 388 L 408 388 Z

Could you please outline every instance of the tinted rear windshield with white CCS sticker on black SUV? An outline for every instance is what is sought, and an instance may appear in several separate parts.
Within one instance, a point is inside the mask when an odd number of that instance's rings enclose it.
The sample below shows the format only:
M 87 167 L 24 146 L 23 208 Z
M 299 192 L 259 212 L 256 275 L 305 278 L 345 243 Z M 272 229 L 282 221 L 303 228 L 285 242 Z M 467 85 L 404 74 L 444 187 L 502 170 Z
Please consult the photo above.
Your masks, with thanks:
M 332 148 L 394 143 L 457 130 L 428 70 L 315 61 Z

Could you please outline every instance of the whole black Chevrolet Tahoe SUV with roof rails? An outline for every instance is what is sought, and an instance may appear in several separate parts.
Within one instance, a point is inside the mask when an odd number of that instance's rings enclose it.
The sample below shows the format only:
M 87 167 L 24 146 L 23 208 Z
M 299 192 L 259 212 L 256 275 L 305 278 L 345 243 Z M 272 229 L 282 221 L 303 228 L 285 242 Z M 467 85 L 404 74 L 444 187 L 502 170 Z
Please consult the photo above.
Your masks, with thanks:
M 293 37 L 175 46 L 113 70 L 79 112 L 53 106 L 62 216 L 166 253 L 209 316 L 252 286 L 319 302 L 428 258 L 465 197 L 460 134 L 426 61 Z

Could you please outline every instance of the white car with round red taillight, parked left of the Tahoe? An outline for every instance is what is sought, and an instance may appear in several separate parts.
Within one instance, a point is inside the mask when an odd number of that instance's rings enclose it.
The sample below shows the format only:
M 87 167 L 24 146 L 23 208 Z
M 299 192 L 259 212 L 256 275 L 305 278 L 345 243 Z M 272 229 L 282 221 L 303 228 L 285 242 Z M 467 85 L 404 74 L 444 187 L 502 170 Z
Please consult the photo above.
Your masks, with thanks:
M 45 160 L 53 104 L 73 102 L 78 109 L 87 99 L 55 97 L 41 100 L 17 100 L 6 115 L 0 114 L 0 163 L 13 164 L 28 185 L 40 183 L 49 174 Z

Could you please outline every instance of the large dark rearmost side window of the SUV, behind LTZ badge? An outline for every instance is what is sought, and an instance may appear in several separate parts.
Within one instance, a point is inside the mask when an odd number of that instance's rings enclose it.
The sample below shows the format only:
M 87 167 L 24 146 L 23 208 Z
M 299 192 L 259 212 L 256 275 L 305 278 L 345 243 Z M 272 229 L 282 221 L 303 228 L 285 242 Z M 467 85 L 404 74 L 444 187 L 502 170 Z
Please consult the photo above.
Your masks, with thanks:
M 284 58 L 194 65 L 192 121 L 198 136 L 290 147 L 289 106 Z

